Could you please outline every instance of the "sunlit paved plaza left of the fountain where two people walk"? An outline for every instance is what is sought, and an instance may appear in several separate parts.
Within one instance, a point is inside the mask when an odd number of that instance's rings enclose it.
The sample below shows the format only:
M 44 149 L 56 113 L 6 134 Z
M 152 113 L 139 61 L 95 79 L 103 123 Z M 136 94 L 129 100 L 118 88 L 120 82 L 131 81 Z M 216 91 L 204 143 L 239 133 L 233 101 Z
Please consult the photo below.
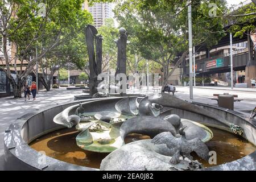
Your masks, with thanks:
M 24 101 L 24 98 L 14 99 L 13 97 L 0 98 L 0 170 L 3 170 L 3 134 L 5 129 L 16 118 L 43 109 L 46 106 L 54 106 L 74 100 L 74 96 L 81 94 L 81 90 L 56 89 L 50 92 L 39 92 L 36 100 Z

